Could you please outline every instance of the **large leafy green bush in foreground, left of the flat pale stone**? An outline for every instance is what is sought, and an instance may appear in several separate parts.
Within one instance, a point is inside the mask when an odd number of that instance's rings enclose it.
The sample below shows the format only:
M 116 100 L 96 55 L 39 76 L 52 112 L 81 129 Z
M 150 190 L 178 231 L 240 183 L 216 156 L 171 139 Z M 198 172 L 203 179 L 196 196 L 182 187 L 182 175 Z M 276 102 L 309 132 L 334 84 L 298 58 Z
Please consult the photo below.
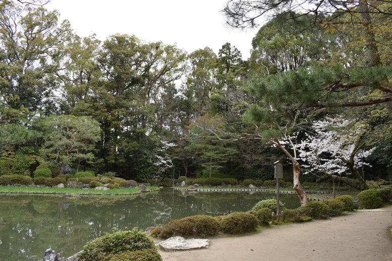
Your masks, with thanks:
M 106 234 L 88 242 L 79 254 L 79 261 L 103 261 L 110 254 L 154 248 L 154 241 L 134 228 Z

